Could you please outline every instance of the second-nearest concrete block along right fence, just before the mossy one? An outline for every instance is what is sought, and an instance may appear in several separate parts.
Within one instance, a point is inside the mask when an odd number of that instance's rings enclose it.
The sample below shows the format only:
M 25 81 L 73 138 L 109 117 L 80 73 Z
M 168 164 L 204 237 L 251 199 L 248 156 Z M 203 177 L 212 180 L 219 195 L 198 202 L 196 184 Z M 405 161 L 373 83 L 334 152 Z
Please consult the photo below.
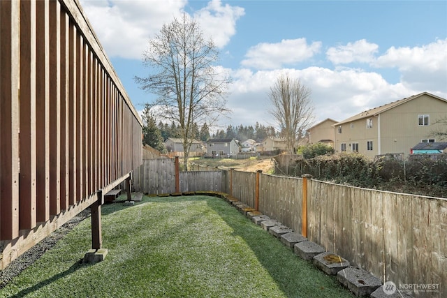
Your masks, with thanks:
M 354 267 L 338 271 L 337 280 L 358 297 L 368 296 L 382 285 L 380 278 L 376 278 L 366 270 Z

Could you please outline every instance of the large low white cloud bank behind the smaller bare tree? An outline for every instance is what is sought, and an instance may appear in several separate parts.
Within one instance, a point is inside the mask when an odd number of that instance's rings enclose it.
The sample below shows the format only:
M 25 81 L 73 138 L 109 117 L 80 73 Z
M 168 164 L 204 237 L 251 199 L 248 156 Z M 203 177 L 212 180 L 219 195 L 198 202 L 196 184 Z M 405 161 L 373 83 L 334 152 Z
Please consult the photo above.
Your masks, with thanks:
M 332 118 L 342 121 L 372 107 L 402 99 L 420 91 L 414 91 L 403 84 L 389 84 L 379 73 L 364 72 L 345 68 L 331 70 L 309 67 L 283 70 L 248 69 L 235 70 L 234 83 L 230 88 L 228 107 L 233 110 L 228 124 L 254 125 L 256 121 L 274 125 L 268 114 L 270 102 L 268 91 L 279 73 L 288 71 L 311 89 L 315 107 L 315 120 Z

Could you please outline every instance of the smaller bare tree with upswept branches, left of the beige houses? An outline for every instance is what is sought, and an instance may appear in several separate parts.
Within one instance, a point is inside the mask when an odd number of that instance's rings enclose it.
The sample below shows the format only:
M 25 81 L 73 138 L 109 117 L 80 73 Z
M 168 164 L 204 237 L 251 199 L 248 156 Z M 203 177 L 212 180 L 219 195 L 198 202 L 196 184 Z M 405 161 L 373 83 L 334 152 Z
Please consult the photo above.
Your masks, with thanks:
M 300 134 L 314 121 L 310 94 L 309 88 L 288 74 L 280 75 L 273 87 L 270 87 L 269 98 L 273 105 L 270 114 L 286 137 L 288 154 L 295 153 Z

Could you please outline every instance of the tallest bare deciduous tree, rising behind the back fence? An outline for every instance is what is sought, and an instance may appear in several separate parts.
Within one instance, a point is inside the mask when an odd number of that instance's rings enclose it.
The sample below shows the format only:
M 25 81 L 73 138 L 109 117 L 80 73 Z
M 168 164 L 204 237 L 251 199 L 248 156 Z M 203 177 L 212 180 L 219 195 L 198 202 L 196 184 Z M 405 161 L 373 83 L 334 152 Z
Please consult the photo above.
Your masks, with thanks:
M 219 51 L 212 40 L 205 40 L 199 25 L 184 14 L 163 24 L 159 34 L 149 40 L 143 53 L 147 77 L 135 77 L 140 88 L 156 94 L 150 104 L 156 116 L 179 124 L 187 170 L 193 124 L 212 124 L 226 109 L 226 89 L 230 77 L 214 63 Z

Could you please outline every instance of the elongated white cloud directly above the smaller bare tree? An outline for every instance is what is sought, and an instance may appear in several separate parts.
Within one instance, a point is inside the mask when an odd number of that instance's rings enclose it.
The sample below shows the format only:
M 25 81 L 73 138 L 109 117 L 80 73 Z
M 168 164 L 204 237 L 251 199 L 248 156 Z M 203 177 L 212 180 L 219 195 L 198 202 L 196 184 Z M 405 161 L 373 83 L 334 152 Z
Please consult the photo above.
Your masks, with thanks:
M 249 48 L 242 66 L 258 69 L 281 68 L 305 61 L 320 52 L 321 42 L 307 44 L 306 38 L 283 39 L 281 43 L 259 43 Z

